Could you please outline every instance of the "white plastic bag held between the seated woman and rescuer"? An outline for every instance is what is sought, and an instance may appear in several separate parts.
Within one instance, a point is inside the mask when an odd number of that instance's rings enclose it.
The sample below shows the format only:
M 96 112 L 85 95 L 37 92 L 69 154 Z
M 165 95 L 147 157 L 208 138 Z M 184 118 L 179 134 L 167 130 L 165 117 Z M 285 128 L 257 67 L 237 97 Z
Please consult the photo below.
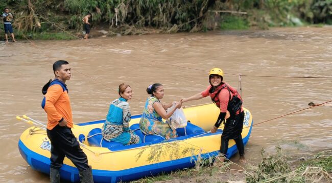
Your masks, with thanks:
M 172 110 L 175 107 L 175 105 L 173 105 L 172 107 L 168 108 L 167 110 Z M 172 116 L 167 119 L 167 123 L 169 124 L 169 126 L 175 130 L 177 128 L 184 128 L 187 126 L 187 120 L 184 116 L 183 110 L 182 108 L 180 109 L 176 109 L 174 111 L 174 113 L 172 114 Z

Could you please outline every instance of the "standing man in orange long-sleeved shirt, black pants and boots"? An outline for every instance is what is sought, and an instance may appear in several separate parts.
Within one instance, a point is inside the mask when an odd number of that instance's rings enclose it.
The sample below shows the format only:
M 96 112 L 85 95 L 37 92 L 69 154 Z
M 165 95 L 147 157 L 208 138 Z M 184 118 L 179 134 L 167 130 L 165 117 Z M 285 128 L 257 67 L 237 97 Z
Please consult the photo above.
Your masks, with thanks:
M 87 156 L 72 132 L 74 126 L 72 107 L 65 84 L 71 77 L 70 70 L 67 61 L 55 62 L 53 64 L 55 79 L 45 84 L 42 89 L 45 97 L 41 106 L 48 115 L 46 133 L 52 145 L 50 182 L 60 183 L 59 170 L 63 159 L 67 157 L 79 170 L 81 182 L 90 183 L 93 182 L 91 166 L 88 165 Z

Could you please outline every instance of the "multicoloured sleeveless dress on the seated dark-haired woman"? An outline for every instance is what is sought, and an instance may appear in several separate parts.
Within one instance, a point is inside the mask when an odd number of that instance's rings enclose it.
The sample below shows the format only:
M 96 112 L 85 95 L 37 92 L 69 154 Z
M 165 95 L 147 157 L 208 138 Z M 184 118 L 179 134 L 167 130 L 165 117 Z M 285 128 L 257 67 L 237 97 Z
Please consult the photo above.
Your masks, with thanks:
M 155 97 L 148 97 L 143 110 L 142 117 L 139 121 L 139 128 L 144 134 L 160 135 L 165 139 L 178 137 L 175 130 L 162 121 L 161 116 L 153 108 L 153 104 L 160 101 Z

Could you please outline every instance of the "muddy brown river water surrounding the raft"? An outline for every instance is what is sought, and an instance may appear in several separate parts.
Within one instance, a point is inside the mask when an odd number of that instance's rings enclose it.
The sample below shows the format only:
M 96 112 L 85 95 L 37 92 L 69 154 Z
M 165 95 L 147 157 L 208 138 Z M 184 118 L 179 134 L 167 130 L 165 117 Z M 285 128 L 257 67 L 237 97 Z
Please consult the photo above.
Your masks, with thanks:
M 68 60 L 67 81 L 75 123 L 103 119 L 117 86 L 133 88 L 132 114 L 143 111 L 148 85 L 164 85 L 164 102 L 178 101 L 208 85 L 208 71 L 220 67 L 224 81 L 238 88 L 254 124 L 332 100 L 332 27 L 276 28 L 199 34 L 124 36 L 74 41 L 0 43 L 0 182 L 48 182 L 20 156 L 17 143 L 29 127 L 15 119 L 27 114 L 46 120 L 42 86 L 54 78 L 52 64 Z M 209 103 L 209 99 L 185 105 Z M 332 148 L 332 107 L 318 106 L 253 127 L 246 158 L 281 145 L 290 155 Z M 234 157 L 233 160 L 237 160 Z

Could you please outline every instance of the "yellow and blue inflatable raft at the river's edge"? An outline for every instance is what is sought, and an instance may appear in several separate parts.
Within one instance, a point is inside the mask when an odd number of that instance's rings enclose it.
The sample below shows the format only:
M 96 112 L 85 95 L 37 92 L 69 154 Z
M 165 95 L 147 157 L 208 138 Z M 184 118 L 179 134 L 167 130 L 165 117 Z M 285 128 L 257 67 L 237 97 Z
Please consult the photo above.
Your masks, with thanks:
M 130 129 L 140 136 L 143 143 L 122 145 L 102 140 L 101 130 L 105 120 L 90 121 L 74 125 L 73 133 L 78 137 L 81 147 L 92 166 L 94 182 L 118 182 L 157 175 L 161 172 L 195 166 L 195 161 L 218 155 L 220 136 L 223 126 L 217 133 L 209 130 L 215 124 L 219 109 L 214 104 L 183 109 L 187 127 L 177 129 L 179 137 L 164 140 L 157 135 L 144 135 L 138 128 L 140 115 L 132 116 Z M 242 137 L 246 145 L 251 133 L 253 120 L 251 113 L 244 108 L 244 129 Z M 51 144 L 46 132 L 31 127 L 24 131 L 19 139 L 18 148 L 21 156 L 35 170 L 50 173 Z M 200 153 L 201 151 L 201 153 Z M 229 141 L 227 156 L 231 157 L 238 149 L 233 140 Z M 157 153 L 161 153 L 157 156 Z M 60 169 L 62 179 L 78 182 L 79 174 L 74 164 L 64 159 Z

